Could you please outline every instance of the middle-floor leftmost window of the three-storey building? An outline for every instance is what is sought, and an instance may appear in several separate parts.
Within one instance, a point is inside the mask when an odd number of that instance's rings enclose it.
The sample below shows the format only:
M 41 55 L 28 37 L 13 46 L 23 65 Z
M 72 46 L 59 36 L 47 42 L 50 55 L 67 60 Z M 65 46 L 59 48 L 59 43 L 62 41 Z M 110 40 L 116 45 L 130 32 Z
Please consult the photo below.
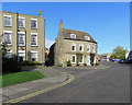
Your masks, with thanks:
M 12 32 L 11 31 L 3 31 L 4 36 L 4 44 L 12 45 Z

